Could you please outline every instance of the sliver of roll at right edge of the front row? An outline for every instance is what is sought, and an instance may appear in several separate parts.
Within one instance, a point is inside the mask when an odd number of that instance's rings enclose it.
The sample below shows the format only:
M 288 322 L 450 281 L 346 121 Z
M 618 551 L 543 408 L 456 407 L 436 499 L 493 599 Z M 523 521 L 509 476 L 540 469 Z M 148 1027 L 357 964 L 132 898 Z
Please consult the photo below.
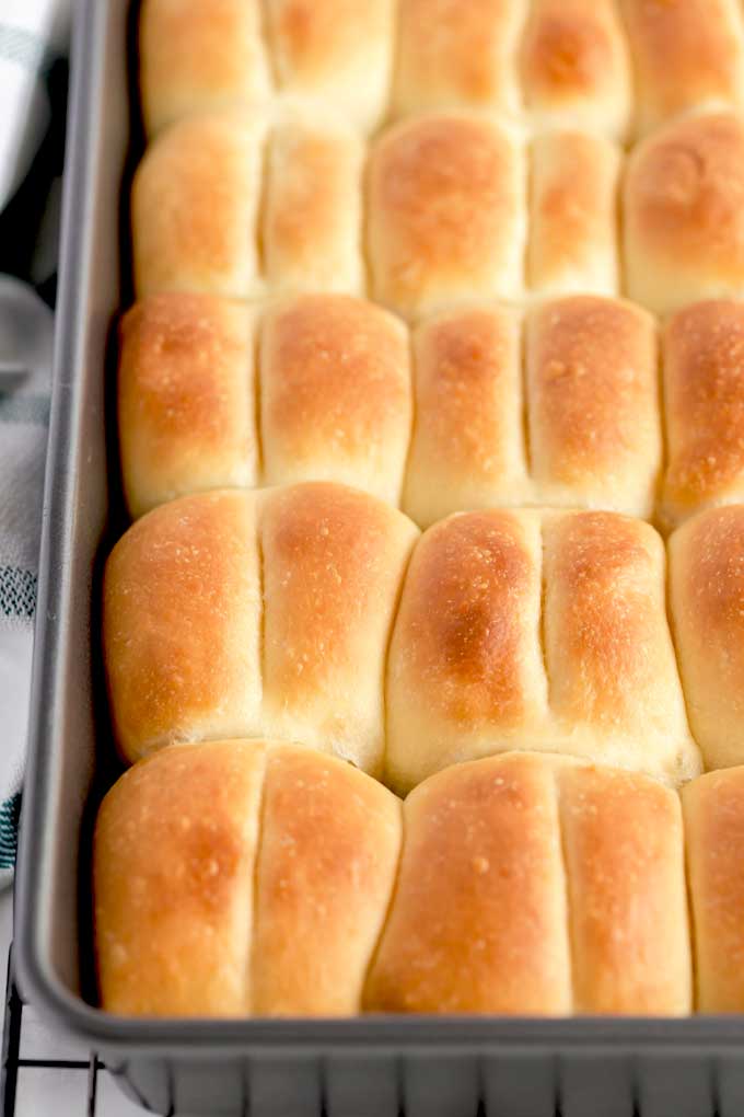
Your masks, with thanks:
M 682 792 L 698 1012 L 744 1011 L 744 768 Z

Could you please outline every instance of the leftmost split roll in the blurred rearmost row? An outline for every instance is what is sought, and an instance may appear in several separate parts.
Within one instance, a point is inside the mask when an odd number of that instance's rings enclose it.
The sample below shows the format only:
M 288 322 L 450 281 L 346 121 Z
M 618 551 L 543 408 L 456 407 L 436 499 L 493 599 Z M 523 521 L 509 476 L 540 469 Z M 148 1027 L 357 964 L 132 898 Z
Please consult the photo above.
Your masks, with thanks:
M 368 131 L 387 104 L 394 0 L 145 0 L 139 83 L 152 134 L 271 99 L 342 107 Z

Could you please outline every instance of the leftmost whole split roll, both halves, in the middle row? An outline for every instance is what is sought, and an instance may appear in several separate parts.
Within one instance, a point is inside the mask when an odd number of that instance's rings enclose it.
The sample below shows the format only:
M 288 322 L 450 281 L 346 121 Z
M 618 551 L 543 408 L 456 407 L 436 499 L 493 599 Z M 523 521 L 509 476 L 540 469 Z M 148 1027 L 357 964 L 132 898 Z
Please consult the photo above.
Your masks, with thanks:
M 134 516 L 187 493 L 311 479 L 399 503 L 408 340 L 371 303 L 152 296 L 124 317 L 118 392 Z

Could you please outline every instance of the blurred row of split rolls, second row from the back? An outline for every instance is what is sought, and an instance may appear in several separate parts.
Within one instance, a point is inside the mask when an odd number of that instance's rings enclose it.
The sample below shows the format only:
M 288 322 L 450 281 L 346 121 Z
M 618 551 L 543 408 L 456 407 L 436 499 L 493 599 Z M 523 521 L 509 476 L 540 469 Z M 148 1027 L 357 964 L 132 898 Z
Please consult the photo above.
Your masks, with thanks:
M 620 164 L 599 136 L 526 144 L 462 112 L 395 125 L 368 154 L 303 114 L 190 117 L 135 176 L 137 293 L 340 290 L 409 318 L 525 292 L 622 293 L 658 313 L 744 293 L 744 117 L 653 133 L 621 190 Z

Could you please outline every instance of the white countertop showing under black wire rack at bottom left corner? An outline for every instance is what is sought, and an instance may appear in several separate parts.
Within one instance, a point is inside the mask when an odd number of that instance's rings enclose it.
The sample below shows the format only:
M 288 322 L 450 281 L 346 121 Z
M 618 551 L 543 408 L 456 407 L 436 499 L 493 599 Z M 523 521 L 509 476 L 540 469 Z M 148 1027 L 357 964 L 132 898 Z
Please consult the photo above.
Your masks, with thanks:
M 6 960 L 12 935 L 12 896 L 0 892 L 0 971 L 6 985 Z M 4 1005 L 4 996 L 3 996 Z M 23 1009 L 23 1059 L 87 1059 L 88 1052 L 64 1035 L 49 1031 L 33 1012 Z M 23 1068 L 18 1078 L 16 1117 L 86 1117 L 87 1075 L 81 1070 Z M 103 1071 L 98 1076 L 96 1117 L 142 1117 L 144 1110 L 128 1101 Z

